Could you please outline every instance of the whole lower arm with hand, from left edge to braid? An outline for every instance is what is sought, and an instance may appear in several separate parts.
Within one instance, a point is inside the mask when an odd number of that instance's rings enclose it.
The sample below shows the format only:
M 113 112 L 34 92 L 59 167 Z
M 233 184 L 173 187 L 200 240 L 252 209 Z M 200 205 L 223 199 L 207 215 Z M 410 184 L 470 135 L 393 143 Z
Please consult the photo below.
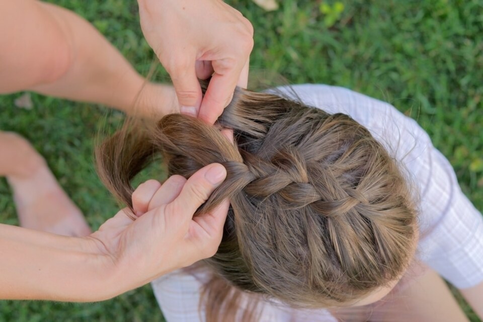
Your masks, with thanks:
M 228 202 L 193 218 L 226 176 L 218 164 L 189 180 L 148 181 L 133 194 L 140 216 L 123 209 L 88 237 L 0 225 L 1 299 L 98 301 L 212 256 Z M 152 210 L 144 213 L 148 205 Z

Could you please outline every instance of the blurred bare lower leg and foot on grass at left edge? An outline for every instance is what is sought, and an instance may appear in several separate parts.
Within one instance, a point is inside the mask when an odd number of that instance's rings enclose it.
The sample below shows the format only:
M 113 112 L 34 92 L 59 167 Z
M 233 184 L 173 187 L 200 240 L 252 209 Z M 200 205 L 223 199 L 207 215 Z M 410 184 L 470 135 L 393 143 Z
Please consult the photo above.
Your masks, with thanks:
M 7 177 L 14 190 L 21 226 L 68 236 L 90 234 L 81 211 L 25 139 L 0 132 L 0 151 L 0 176 Z

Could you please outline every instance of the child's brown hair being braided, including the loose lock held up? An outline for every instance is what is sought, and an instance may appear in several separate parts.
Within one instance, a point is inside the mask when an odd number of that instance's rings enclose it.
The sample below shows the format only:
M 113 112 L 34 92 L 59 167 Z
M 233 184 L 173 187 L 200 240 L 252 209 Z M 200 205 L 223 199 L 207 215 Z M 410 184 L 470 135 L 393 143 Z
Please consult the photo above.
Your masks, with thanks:
M 129 180 L 155 152 L 170 175 L 224 165 L 227 179 L 198 213 L 230 199 L 221 245 L 206 263 L 241 290 L 294 306 L 344 306 L 403 274 L 416 210 L 394 160 L 366 128 L 245 90 L 218 123 L 233 129 L 234 144 L 178 114 L 151 130 L 124 128 L 104 143 L 101 155 L 116 153 L 100 159 L 105 181 L 130 204 Z

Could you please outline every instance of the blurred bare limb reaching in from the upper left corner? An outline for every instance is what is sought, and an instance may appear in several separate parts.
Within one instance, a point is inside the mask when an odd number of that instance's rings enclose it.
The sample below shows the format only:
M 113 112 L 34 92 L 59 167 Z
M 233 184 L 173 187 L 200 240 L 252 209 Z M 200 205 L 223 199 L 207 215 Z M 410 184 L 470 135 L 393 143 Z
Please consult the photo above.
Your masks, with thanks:
M 0 29 L 9 30 L 0 34 L 0 94 L 31 90 L 148 115 L 177 110 L 171 87 L 146 83 L 92 25 L 68 10 L 3 1 Z

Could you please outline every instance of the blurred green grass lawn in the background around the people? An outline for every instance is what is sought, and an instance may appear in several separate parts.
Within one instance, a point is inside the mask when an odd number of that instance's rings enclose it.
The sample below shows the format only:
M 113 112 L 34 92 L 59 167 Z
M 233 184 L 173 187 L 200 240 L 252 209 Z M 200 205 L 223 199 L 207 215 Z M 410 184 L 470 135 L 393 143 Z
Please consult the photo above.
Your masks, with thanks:
M 255 27 L 253 74 L 272 85 L 280 84 L 280 75 L 290 84 L 338 85 L 392 103 L 429 132 L 465 194 L 483 209 L 483 2 L 346 0 L 342 13 L 327 15 L 320 12 L 320 1 L 279 2 L 279 10 L 267 13 L 249 0 L 228 1 Z M 134 0 L 55 3 L 91 21 L 139 72 L 147 73 L 152 53 L 142 38 Z M 162 71 L 158 79 L 165 75 Z M 93 167 L 94 139 L 105 109 L 33 95 L 35 108 L 27 111 L 14 107 L 18 96 L 0 97 L 0 129 L 27 137 L 98 227 L 118 208 Z M 109 121 L 120 118 L 114 114 Z M 5 181 L 0 181 L 0 221 L 17 223 Z M 102 303 L 0 302 L 0 320 L 161 319 L 148 287 Z

